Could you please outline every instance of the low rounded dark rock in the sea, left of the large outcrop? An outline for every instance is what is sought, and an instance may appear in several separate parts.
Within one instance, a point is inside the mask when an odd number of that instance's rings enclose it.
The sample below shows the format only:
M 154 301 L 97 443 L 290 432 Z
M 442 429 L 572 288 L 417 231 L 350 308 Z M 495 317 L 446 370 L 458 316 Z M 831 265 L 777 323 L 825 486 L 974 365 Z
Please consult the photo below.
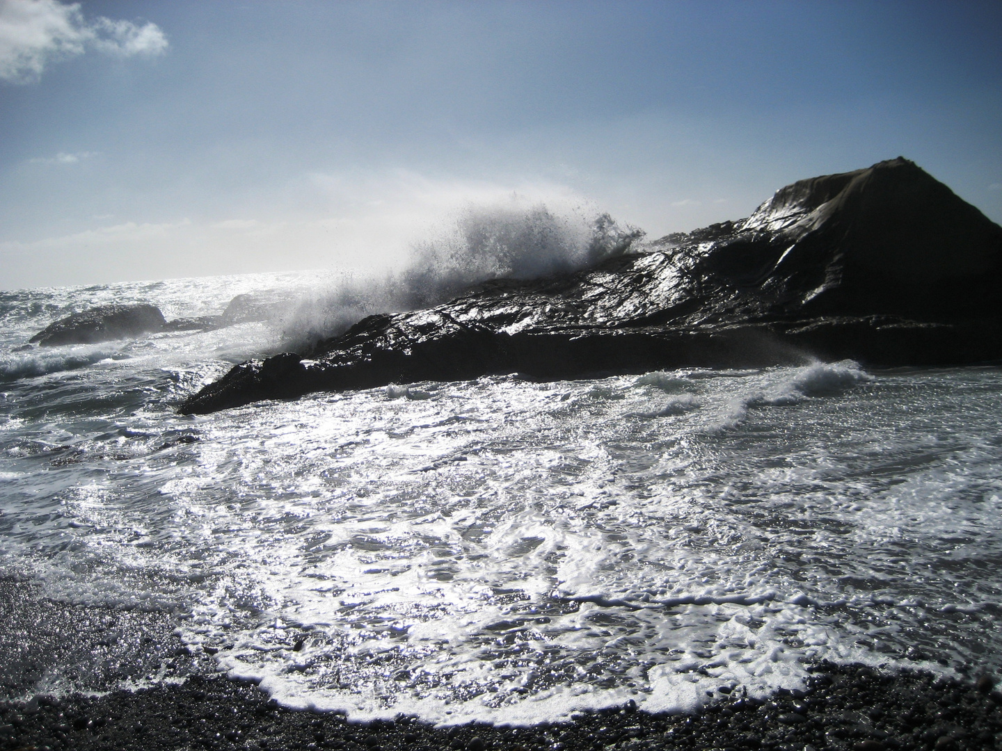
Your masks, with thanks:
M 126 339 L 163 329 L 166 321 L 155 305 L 113 303 L 67 315 L 31 337 L 41 346 L 92 344 Z

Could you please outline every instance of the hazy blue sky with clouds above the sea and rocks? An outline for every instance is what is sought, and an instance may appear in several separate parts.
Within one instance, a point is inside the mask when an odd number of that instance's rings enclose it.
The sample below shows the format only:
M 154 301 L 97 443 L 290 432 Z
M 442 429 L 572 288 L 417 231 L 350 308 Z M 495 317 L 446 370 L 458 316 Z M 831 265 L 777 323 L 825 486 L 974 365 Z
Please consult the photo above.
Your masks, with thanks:
M 1002 222 L 1002 3 L 0 0 L 0 288 L 658 237 L 913 159 Z

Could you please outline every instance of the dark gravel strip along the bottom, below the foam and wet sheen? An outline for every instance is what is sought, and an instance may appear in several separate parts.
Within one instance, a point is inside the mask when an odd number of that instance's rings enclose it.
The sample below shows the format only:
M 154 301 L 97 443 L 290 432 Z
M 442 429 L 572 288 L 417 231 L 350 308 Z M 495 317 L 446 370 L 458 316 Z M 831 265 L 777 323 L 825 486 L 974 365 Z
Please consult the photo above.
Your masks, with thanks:
M 288 710 L 254 685 L 194 675 L 135 693 L 8 702 L 0 705 L 0 745 L 37 751 L 1002 748 L 1002 695 L 988 678 L 970 685 L 822 664 L 810 684 L 769 701 L 720 694 L 692 716 L 626 706 L 528 728 L 435 728 L 413 718 L 358 724 L 338 714 Z

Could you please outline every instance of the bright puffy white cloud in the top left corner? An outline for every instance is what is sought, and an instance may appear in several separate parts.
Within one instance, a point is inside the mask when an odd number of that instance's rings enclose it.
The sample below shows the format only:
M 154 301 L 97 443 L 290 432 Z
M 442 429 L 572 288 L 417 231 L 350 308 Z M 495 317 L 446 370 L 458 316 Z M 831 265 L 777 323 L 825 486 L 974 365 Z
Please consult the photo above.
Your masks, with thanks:
M 0 79 L 33 83 L 50 63 L 88 48 L 119 57 L 158 55 L 167 38 L 154 23 L 84 19 L 80 5 L 58 0 L 0 0 Z

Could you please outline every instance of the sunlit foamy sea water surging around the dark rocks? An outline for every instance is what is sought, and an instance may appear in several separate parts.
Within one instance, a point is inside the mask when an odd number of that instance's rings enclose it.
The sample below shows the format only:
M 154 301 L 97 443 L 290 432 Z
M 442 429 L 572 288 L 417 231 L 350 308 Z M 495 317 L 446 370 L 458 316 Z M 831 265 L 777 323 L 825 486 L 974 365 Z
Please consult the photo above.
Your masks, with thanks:
M 169 613 L 234 677 L 359 719 L 688 710 L 822 659 L 1002 669 L 999 367 L 511 373 L 183 417 L 283 322 L 23 348 L 94 304 L 310 280 L 0 292 L 0 575 Z M 63 667 L 25 695 L 72 690 Z

